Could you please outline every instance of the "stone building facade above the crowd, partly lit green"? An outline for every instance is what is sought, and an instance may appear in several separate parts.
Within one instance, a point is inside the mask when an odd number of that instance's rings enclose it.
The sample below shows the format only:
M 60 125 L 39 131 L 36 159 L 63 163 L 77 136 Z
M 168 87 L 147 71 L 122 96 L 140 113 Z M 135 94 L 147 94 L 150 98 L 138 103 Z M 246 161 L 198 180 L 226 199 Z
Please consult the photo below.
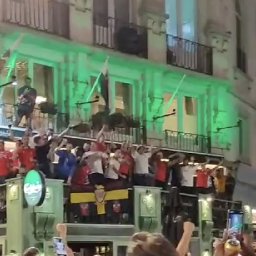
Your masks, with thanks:
M 36 109 L 34 128 L 60 131 L 103 109 L 94 85 L 108 59 L 110 109 L 143 127 L 120 129 L 115 141 L 254 165 L 250 1 L 2 0 L 1 84 L 30 76 L 58 109 Z M 16 94 L 1 90 L 3 126 L 14 118 Z

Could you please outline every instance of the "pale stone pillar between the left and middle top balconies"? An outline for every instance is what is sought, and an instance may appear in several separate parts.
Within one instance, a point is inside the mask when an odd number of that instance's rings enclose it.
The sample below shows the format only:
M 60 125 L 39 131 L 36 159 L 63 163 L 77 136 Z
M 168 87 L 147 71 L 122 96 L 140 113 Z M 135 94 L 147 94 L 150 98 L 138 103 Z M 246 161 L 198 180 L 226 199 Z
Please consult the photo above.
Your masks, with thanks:
M 93 0 L 71 0 L 70 39 L 83 44 L 93 44 Z

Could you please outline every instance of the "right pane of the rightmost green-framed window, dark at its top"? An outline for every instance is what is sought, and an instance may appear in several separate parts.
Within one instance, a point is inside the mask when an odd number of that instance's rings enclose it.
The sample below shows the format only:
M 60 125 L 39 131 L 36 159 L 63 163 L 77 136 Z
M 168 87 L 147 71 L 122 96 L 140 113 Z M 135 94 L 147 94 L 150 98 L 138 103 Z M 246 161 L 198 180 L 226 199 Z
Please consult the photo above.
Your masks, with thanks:
M 197 99 L 186 96 L 183 98 L 183 131 L 185 133 L 198 133 Z

